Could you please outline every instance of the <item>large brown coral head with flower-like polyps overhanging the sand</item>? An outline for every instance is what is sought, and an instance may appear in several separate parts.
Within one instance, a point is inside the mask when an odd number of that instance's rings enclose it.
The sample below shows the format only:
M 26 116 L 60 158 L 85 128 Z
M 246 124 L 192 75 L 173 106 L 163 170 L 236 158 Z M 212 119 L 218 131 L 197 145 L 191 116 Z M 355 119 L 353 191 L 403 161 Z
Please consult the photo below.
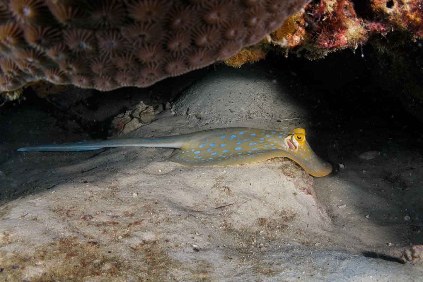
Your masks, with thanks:
M 230 57 L 306 0 L 0 0 L 0 91 L 146 87 Z

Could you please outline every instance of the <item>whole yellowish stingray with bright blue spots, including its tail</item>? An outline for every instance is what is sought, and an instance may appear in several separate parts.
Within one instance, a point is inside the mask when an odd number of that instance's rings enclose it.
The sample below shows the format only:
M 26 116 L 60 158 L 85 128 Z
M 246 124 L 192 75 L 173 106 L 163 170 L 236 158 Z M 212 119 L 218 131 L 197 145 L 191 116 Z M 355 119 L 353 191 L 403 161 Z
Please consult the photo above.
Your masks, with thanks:
M 316 177 L 325 176 L 332 171 L 332 165 L 313 152 L 305 139 L 303 128 L 280 132 L 249 127 L 228 127 L 156 138 L 24 147 L 18 151 L 75 152 L 105 147 L 175 148 L 169 160 L 187 166 L 235 166 L 286 157 Z

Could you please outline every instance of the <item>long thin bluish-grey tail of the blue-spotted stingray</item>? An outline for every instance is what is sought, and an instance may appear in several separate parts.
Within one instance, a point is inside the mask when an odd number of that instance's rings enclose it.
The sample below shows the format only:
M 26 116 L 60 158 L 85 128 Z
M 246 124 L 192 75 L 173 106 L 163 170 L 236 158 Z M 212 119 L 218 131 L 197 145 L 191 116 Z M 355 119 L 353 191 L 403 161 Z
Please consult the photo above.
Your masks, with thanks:
M 70 144 L 52 144 L 17 149 L 19 152 L 49 151 L 49 152 L 78 152 L 102 149 L 107 147 L 161 147 L 177 148 L 182 146 L 182 136 L 165 136 L 158 138 L 121 139 L 110 141 L 88 141 Z

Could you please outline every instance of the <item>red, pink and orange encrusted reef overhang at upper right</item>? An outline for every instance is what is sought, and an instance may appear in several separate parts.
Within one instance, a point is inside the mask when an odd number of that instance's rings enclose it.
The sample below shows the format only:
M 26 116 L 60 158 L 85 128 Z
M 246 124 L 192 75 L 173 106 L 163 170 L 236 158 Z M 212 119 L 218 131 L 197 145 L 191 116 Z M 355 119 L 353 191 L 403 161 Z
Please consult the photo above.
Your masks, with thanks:
M 270 34 L 268 42 L 287 52 L 322 58 L 345 48 L 356 49 L 373 35 L 402 31 L 423 38 L 421 0 L 313 1 L 288 17 Z

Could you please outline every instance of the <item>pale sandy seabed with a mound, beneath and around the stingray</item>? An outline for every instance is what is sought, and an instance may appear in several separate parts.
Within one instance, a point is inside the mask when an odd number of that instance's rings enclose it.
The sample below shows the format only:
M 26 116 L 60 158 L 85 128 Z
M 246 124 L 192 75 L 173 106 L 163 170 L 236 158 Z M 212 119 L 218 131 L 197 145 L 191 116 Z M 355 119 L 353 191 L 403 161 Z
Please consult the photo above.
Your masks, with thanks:
M 0 279 L 421 281 L 421 264 L 397 259 L 423 239 L 421 148 L 379 134 L 379 155 L 360 159 L 368 143 L 343 147 L 313 126 L 286 81 L 260 65 L 221 67 L 125 137 L 304 127 L 334 164 L 327 177 L 286 158 L 188 167 L 161 148 L 15 152 L 87 135 L 37 108 L 4 113 Z

